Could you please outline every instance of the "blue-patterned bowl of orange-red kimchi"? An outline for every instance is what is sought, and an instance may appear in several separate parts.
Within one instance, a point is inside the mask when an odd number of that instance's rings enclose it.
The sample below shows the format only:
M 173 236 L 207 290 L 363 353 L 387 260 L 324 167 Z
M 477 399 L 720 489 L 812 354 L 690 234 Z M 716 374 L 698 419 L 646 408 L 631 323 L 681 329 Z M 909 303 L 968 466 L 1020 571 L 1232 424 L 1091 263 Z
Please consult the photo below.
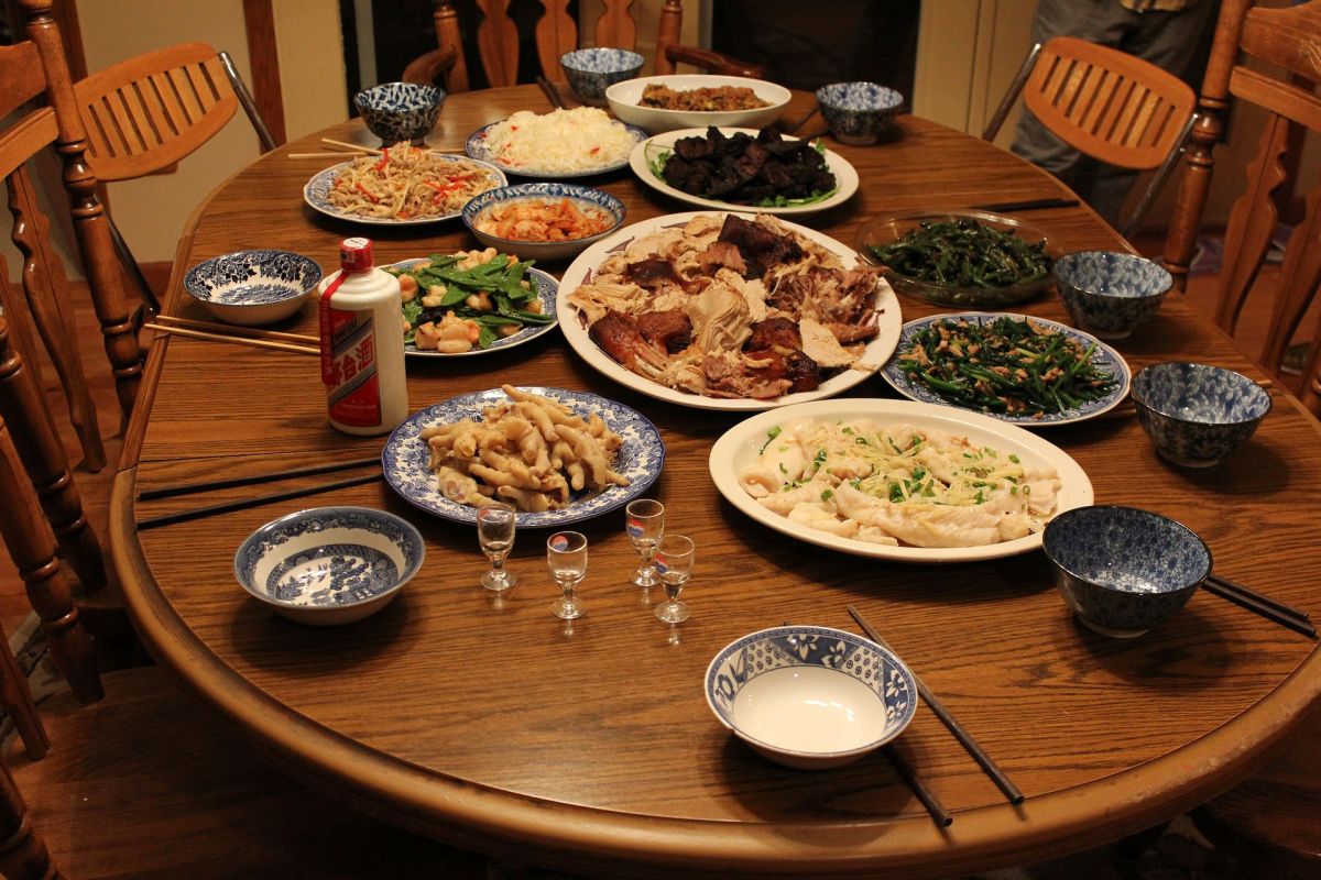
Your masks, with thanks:
M 464 206 L 477 240 L 523 260 L 567 260 L 624 223 L 624 202 L 572 183 L 501 186 Z

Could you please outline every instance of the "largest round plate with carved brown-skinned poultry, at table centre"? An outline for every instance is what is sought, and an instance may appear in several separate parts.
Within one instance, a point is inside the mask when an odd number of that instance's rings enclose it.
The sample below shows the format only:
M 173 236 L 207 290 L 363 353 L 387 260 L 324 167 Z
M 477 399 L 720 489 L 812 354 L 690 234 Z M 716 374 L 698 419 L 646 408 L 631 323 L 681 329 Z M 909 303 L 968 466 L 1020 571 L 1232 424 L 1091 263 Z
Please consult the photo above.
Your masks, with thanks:
M 560 292 L 560 330 L 588 364 L 697 409 L 831 397 L 878 369 L 902 327 L 880 269 L 768 214 L 634 223 L 579 255 Z

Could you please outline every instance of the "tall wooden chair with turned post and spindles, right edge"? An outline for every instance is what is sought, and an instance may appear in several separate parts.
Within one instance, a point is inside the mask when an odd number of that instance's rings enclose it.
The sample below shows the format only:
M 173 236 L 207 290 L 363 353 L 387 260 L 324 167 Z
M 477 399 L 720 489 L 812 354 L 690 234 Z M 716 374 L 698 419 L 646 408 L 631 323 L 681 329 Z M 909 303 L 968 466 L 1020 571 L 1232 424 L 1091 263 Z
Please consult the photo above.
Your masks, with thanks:
M 1225 260 L 1215 322 L 1226 332 L 1234 332 L 1243 303 L 1271 249 L 1279 223 L 1275 197 L 1288 191 L 1288 152 L 1297 145 L 1297 139 L 1291 137 L 1291 129 L 1301 127 L 1321 131 L 1321 99 L 1312 90 L 1297 84 L 1297 80 L 1310 83 L 1321 79 L 1318 41 L 1321 4 L 1316 1 L 1258 9 L 1248 0 L 1226 0 L 1221 7 L 1206 80 L 1202 84 L 1199 120 L 1193 128 L 1192 146 L 1188 150 L 1188 174 L 1180 187 L 1165 241 L 1165 264 L 1182 289 L 1211 186 L 1211 150 L 1221 140 L 1230 96 L 1239 103 L 1263 108 L 1267 117 L 1260 128 L 1258 153 L 1248 164 L 1246 186 L 1234 203 L 1225 230 Z M 1283 69 L 1285 74 L 1280 77 L 1260 66 L 1247 66 L 1247 59 L 1267 62 Z M 1293 228 L 1280 268 L 1280 296 L 1271 313 L 1266 348 L 1259 358 L 1260 364 L 1276 375 L 1280 373 L 1284 352 L 1321 282 L 1318 202 L 1321 190 L 1313 189 L 1306 197 L 1305 216 Z M 1299 397 L 1312 412 L 1321 414 L 1318 342 L 1321 326 L 1312 331 Z

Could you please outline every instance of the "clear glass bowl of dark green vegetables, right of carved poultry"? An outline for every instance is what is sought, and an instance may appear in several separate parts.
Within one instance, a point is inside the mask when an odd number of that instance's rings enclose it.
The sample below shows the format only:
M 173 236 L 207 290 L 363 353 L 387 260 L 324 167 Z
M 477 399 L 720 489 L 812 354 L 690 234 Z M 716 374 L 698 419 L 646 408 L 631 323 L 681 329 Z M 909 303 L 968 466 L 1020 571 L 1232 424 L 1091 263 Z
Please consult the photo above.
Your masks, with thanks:
M 1003 306 L 1053 282 L 1059 245 L 1040 228 L 984 211 L 913 211 L 859 231 L 857 249 L 900 293 L 946 306 Z

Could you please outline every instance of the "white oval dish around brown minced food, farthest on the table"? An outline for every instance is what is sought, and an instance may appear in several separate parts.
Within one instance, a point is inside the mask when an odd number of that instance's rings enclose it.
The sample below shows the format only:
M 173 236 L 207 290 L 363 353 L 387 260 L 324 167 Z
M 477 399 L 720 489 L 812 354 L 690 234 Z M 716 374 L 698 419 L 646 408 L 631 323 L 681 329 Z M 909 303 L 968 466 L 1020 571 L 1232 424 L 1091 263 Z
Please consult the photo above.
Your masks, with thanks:
M 658 83 L 668 86 L 675 91 L 691 88 L 719 88 L 720 86 L 742 86 L 752 88 L 757 98 L 768 102 L 769 107 L 757 110 L 659 110 L 657 107 L 641 107 L 642 90 Z M 761 128 L 779 119 L 785 104 L 793 95 L 783 86 L 769 83 L 764 79 L 749 79 L 746 77 L 720 77 L 715 74 L 672 74 L 668 77 L 638 77 L 614 83 L 605 90 L 605 100 L 610 106 L 610 112 L 630 125 L 637 125 L 651 135 L 671 132 L 676 128 L 705 128 L 707 125 L 744 125 Z

